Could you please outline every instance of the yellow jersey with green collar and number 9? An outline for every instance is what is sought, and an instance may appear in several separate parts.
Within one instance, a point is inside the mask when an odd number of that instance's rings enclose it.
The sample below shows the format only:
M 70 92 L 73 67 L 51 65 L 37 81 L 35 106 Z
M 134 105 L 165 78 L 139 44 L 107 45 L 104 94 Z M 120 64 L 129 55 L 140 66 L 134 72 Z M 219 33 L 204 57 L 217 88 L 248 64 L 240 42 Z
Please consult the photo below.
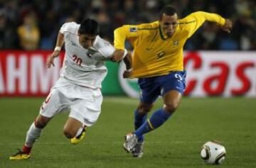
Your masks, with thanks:
M 225 24 L 225 19 L 218 14 L 198 11 L 178 19 L 176 31 L 170 38 L 162 33 L 159 21 L 124 25 L 114 30 L 114 47 L 124 50 L 125 40 L 134 47 L 132 77 L 156 77 L 182 71 L 183 45 L 205 21 Z

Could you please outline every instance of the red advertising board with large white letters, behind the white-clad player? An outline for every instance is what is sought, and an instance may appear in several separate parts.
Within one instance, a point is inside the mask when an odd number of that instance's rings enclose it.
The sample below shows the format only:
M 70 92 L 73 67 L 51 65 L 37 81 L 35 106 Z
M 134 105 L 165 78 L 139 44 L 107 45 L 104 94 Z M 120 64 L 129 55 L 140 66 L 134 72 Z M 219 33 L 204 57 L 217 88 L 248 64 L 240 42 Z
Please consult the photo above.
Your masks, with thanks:
M 59 77 L 63 53 L 47 69 L 50 51 L 1 51 L 0 96 L 45 96 Z

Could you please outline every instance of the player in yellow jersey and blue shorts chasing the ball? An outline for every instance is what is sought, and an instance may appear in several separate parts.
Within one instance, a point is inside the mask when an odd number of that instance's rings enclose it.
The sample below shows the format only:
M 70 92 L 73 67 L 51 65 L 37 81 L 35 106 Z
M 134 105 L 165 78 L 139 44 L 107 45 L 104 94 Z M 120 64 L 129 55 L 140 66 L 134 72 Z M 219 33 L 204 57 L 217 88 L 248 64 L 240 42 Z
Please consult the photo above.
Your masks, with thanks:
M 176 9 L 166 6 L 159 13 L 159 21 L 141 25 L 124 25 L 114 30 L 114 59 L 124 51 L 124 41 L 134 47 L 132 69 L 124 77 L 139 78 L 142 90 L 139 106 L 134 112 L 134 133 L 126 135 L 124 149 L 134 157 L 142 157 L 145 133 L 158 128 L 176 111 L 186 88 L 183 69 L 183 45 L 205 21 L 217 23 L 230 32 L 232 22 L 215 13 L 198 11 L 178 19 Z M 158 96 L 164 100 L 163 108 L 155 111 L 146 121 L 146 114 Z

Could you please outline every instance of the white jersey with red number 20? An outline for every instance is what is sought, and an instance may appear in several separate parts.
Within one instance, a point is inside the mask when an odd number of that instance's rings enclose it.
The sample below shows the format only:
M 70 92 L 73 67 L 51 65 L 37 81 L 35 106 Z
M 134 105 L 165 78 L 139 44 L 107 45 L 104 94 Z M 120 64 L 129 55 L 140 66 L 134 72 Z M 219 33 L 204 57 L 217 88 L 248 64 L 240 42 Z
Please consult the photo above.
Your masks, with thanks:
M 78 28 L 80 24 L 65 23 L 60 33 L 65 37 L 65 58 L 60 69 L 60 77 L 73 84 L 92 89 L 101 88 L 107 75 L 105 60 L 114 52 L 114 47 L 97 35 L 92 47 L 85 49 L 79 43 Z

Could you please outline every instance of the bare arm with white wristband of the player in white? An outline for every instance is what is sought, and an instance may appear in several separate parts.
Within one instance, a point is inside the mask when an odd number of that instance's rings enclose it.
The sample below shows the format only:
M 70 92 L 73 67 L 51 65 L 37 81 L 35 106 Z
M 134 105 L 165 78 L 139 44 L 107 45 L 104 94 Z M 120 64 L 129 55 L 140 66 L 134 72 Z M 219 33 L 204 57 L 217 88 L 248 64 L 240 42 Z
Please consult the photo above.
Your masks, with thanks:
M 50 57 L 48 57 L 48 59 L 46 61 L 47 68 L 50 68 L 51 65 L 53 65 L 53 67 L 54 67 L 53 60 L 55 59 L 55 57 L 58 57 L 60 55 L 60 50 L 61 50 L 61 47 L 63 46 L 63 43 L 64 43 L 64 35 L 62 33 L 58 33 L 56 47 L 55 47 L 53 53 L 50 55 Z

